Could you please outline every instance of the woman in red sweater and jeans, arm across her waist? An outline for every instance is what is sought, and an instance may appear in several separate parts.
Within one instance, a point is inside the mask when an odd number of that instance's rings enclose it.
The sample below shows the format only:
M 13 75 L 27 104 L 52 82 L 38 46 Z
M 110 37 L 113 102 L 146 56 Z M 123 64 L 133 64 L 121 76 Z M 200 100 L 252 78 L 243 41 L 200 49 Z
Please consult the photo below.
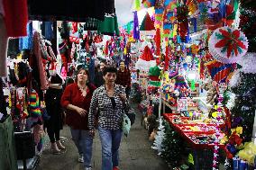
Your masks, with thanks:
M 85 68 L 78 70 L 77 81 L 68 85 L 61 97 L 61 105 L 66 109 L 66 123 L 72 139 L 78 148 L 78 162 L 85 169 L 91 169 L 93 138 L 88 133 L 88 112 L 95 85 L 88 82 L 89 73 Z

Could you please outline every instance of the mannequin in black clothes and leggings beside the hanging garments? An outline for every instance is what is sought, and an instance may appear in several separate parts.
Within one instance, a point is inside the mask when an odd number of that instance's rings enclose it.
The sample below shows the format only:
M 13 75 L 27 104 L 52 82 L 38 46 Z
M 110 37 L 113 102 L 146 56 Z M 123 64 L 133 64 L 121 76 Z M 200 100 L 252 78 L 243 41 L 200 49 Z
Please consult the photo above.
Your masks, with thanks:
M 59 131 L 63 128 L 63 111 L 61 110 L 60 99 L 63 80 L 59 75 L 50 76 L 50 86 L 44 95 L 46 111 L 50 119 L 44 121 L 47 133 L 50 138 L 52 154 L 59 154 L 65 147 L 60 143 Z

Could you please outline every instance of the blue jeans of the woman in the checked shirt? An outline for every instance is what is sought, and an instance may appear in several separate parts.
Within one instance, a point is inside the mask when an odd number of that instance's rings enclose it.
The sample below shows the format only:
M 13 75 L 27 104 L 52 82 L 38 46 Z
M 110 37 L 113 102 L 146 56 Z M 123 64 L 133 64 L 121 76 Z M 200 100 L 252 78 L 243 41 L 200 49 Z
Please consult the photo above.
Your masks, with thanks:
M 102 170 L 112 170 L 119 164 L 119 147 L 122 139 L 122 130 L 105 130 L 98 127 L 102 145 Z

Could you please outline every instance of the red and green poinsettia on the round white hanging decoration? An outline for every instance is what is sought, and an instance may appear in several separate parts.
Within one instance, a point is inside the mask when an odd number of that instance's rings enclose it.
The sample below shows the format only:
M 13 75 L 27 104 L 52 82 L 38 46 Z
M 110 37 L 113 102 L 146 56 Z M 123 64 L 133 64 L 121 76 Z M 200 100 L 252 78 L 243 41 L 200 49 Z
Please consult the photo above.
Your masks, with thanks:
M 227 30 L 219 29 L 219 32 L 215 34 L 219 39 L 215 44 L 215 48 L 222 48 L 221 52 L 223 53 L 226 51 L 227 58 L 230 58 L 231 54 L 238 56 L 239 53 L 242 53 L 242 49 L 246 49 L 239 30 L 232 31 L 227 28 Z

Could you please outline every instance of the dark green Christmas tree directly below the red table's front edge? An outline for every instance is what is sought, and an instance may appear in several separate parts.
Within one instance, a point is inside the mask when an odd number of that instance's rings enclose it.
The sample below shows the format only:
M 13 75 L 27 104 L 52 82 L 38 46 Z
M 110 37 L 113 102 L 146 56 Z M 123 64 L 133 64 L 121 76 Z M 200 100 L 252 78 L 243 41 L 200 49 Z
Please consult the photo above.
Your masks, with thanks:
M 181 139 L 178 132 L 169 126 L 169 122 L 163 121 L 165 126 L 165 139 L 162 141 L 163 151 L 161 157 L 172 167 L 177 167 L 182 164 L 186 153 L 186 143 Z

